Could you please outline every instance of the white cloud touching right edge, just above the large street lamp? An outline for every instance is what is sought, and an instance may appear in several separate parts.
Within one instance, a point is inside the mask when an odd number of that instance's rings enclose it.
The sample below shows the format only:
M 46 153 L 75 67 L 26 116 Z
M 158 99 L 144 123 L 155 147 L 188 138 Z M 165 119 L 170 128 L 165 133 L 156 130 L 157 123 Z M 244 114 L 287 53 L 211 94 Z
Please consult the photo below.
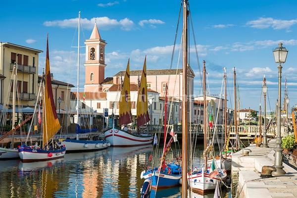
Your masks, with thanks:
M 258 29 L 273 28 L 275 30 L 289 29 L 291 26 L 297 24 L 297 19 L 281 20 L 272 17 L 260 17 L 256 20 L 248 21 L 247 26 Z

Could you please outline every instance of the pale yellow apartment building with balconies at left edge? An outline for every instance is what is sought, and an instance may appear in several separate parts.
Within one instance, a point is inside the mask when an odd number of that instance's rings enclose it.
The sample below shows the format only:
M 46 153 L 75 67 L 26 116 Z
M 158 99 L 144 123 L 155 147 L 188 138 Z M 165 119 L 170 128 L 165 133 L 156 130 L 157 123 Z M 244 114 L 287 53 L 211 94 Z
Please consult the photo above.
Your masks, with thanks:
M 28 48 L 12 43 L 0 43 L 0 103 L 12 103 L 11 75 L 17 66 L 17 82 L 23 106 L 34 106 L 38 84 L 40 49 Z

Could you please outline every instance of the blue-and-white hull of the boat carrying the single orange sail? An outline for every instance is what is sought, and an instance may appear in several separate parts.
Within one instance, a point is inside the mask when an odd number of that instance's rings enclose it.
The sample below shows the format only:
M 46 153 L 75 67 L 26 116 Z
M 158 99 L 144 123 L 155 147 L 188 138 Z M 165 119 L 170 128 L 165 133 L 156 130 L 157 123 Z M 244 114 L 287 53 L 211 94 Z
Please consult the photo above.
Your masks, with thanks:
M 19 148 L 19 156 L 23 162 L 33 161 L 48 161 L 51 159 L 57 159 L 64 157 L 66 149 L 59 150 L 41 150 L 41 149 L 30 149 L 30 148 Z

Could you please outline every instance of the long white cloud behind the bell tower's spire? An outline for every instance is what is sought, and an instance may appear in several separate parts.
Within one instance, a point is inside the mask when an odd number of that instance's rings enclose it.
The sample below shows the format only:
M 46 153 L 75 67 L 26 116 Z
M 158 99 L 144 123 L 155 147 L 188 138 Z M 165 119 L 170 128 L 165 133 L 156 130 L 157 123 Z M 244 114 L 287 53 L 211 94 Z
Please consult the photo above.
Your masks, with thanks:
M 122 30 L 129 31 L 133 28 L 134 22 L 129 18 L 121 20 L 110 19 L 107 16 L 93 17 L 91 19 L 82 18 L 81 24 L 85 29 L 92 29 L 95 22 L 97 22 L 99 29 L 109 30 L 115 27 L 120 27 Z M 64 20 L 53 20 L 45 21 L 44 25 L 48 27 L 60 27 L 60 28 L 75 28 L 77 27 L 78 18 L 64 19 Z

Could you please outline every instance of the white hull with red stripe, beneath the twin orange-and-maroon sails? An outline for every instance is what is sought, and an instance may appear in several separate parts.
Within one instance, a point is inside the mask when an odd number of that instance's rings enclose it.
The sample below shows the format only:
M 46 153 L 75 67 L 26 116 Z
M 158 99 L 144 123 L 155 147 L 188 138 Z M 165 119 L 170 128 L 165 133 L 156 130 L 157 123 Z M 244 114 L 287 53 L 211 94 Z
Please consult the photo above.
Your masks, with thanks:
M 137 147 L 149 145 L 153 140 L 150 134 L 134 135 L 120 129 L 109 129 L 104 132 L 104 136 L 111 147 Z

